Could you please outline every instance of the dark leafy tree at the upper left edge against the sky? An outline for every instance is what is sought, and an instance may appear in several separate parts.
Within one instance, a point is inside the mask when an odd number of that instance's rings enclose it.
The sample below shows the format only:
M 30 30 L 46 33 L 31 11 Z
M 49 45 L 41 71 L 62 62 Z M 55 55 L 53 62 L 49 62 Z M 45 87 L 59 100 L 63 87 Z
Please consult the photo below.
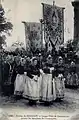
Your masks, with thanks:
M 13 28 L 12 23 L 7 21 L 7 18 L 5 18 L 4 14 L 5 11 L 0 4 L 0 48 L 2 48 L 3 44 L 6 44 L 6 34 L 10 35 L 10 30 Z

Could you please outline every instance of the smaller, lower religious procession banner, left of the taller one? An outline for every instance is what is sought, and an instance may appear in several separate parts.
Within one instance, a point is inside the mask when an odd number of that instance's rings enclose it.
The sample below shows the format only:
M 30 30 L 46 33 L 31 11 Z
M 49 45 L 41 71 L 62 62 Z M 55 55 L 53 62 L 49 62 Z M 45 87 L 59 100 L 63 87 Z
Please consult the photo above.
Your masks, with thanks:
M 41 41 L 41 24 L 36 22 L 25 22 L 26 49 L 31 51 L 40 50 Z

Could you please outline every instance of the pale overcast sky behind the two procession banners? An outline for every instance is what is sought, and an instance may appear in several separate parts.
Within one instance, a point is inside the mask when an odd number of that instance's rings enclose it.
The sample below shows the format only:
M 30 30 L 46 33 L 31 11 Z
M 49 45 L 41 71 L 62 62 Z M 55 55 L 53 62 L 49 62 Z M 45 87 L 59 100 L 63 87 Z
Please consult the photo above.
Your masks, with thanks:
M 25 31 L 22 21 L 39 22 L 42 18 L 41 3 L 53 4 L 53 0 L 3 0 L 2 5 L 5 8 L 7 18 L 13 24 L 12 36 L 7 38 L 7 44 L 10 46 L 13 42 L 20 40 L 25 43 Z M 65 35 L 64 39 L 73 38 L 73 7 L 71 0 L 55 0 L 55 4 L 65 7 Z

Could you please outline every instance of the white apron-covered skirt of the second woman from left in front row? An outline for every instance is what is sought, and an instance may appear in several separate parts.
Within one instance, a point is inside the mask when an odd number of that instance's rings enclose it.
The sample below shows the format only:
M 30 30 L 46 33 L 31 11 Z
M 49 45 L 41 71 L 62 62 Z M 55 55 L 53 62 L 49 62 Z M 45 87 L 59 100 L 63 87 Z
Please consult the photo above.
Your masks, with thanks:
M 39 87 L 38 87 L 38 77 L 37 79 L 31 79 L 26 76 L 23 97 L 29 100 L 39 99 Z

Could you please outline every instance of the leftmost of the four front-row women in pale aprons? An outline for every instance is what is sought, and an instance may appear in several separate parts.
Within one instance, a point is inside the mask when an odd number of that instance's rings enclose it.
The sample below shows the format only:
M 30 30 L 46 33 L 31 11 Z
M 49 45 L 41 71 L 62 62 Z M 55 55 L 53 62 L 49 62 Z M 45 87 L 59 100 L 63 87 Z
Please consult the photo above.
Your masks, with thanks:
M 25 82 L 24 63 L 23 63 L 23 59 L 21 58 L 17 66 L 17 76 L 14 87 L 14 95 L 16 100 L 22 97 L 24 91 L 24 82 Z

